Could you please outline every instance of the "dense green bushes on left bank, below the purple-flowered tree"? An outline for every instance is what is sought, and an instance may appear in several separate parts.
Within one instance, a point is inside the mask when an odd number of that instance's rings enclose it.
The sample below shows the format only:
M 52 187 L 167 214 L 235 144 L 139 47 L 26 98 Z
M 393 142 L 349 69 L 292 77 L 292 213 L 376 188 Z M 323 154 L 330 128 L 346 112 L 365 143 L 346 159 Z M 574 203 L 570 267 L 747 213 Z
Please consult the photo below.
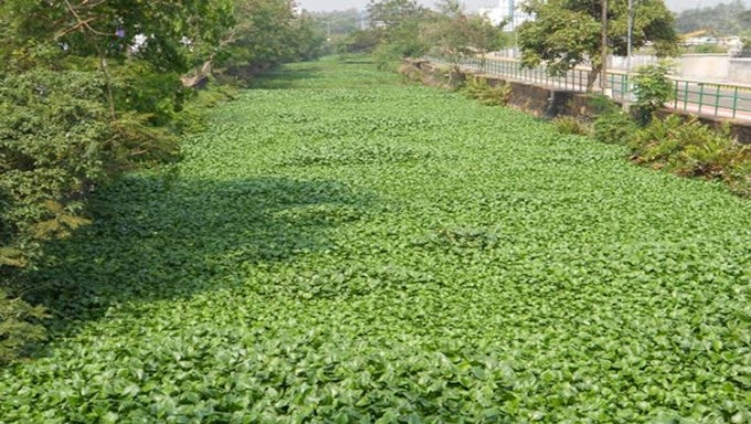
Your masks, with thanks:
M 91 191 L 123 170 L 178 156 L 173 128 L 155 123 L 159 113 L 139 113 L 127 102 L 134 109 L 113 110 L 108 88 L 96 71 L 34 68 L 0 80 L 0 361 L 43 333 L 29 320 L 43 309 L 6 294 L 15 295 L 10 280 L 19 268 L 36 265 L 47 241 L 88 223 Z M 115 88 L 148 103 L 134 95 L 137 87 Z M 169 123 L 169 107 L 156 103 Z

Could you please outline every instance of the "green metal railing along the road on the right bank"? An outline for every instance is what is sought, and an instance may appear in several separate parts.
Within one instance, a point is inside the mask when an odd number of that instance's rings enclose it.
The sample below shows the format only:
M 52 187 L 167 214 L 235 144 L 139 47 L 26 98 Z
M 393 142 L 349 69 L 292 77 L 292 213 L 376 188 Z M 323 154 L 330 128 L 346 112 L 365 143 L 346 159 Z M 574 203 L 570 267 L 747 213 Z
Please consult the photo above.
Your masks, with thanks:
M 426 60 L 448 65 L 442 57 L 429 56 Z M 586 92 L 590 82 L 590 70 L 577 67 L 562 75 L 553 76 L 546 66 L 522 67 L 515 59 L 463 57 L 458 61 L 461 68 L 489 75 L 504 76 L 509 81 L 532 83 L 549 88 L 570 92 Z M 616 100 L 633 100 L 633 75 L 625 72 L 607 73 L 607 86 Z M 667 106 L 675 110 L 690 114 L 751 120 L 751 86 L 720 84 L 701 81 L 671 78 L 675 84 L 674 97 Z M 595 80 L 594 86 L 599 85 Z

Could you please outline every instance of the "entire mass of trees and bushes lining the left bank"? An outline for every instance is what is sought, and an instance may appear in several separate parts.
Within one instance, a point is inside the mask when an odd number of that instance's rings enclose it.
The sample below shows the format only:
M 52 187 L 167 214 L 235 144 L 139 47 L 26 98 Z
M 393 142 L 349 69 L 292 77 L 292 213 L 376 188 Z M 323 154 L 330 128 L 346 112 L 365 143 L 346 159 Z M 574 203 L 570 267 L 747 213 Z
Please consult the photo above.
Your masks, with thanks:
M 15 287 L 21 273 L 89 223 L 92 192 L 180 157 L 178 135 L 203 129 L 202 109 L 228 98 L 214 87 L 215 65 L 311 60 L 322 45 L 311 18 L 277 0 L 4 0 L 0 39 L 0 288 L 9 296 L 33 292 Z M 24 342 L 6 337 L 10 358 Z

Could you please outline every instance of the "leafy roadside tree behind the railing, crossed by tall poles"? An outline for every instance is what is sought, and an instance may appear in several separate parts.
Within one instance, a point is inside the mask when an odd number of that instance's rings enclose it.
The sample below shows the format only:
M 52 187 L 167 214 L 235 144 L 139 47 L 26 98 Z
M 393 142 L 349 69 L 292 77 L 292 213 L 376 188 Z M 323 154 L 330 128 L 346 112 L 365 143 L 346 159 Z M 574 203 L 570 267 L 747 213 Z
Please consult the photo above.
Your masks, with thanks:
M 638 49 L 650 42 L 659 56 L 675 54 L 674 17 L 663 0 L 636 0 L 635 3 L 633 46 Z M 601 4 L 592 0 L 531 0 L 525 11 L 536 19 L 519 28 L 522 65 L 533 67 L 544 63 L 550 74 L 562 75 L 589 61 L 591 72 L 586 85 L 591 91 L 603 66 Z M 607 47 L 618 56 L 625 56 L 627 50 L 627 4 L 626 0 L 611 1 L 607 12 Z

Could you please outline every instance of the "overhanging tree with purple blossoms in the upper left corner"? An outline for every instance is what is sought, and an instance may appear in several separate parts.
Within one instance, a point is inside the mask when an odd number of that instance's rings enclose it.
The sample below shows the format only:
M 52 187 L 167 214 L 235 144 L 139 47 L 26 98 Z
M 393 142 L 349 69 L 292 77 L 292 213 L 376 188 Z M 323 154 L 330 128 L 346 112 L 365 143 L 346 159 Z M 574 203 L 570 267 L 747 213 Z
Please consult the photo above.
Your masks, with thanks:
M 123 105 L 147 107 L 139 110 L 142 113 L 165 112 L 154 107 L 155 91 L 146 103 L 118 98 L 134 96 L 139 87 L 119 84 L 123 89 L 117 93 L 117 75 L 113 74 L 121 71 L 133 81 L 138 73 L 139 82 L 165 87 L 157 97 L 170 98 L 179 108 L 181 94 L 174 89 L 179 74 L 211 54 L 233 23 L 230 0 L 6 0 L 0 2 L 0 17 L 8 40 L 8 49 L 0 50 L 0 63 L 4 63 L 0 68 L 22 72 L 44 65 L 60 71 L 97 71 L 105 81 L 112 120 L 117 119 L 117 108 Z M 136 61 L 148 65 L 124 66 Z M 165 75 L 170 75 L 173 84 L 165 84 Z

